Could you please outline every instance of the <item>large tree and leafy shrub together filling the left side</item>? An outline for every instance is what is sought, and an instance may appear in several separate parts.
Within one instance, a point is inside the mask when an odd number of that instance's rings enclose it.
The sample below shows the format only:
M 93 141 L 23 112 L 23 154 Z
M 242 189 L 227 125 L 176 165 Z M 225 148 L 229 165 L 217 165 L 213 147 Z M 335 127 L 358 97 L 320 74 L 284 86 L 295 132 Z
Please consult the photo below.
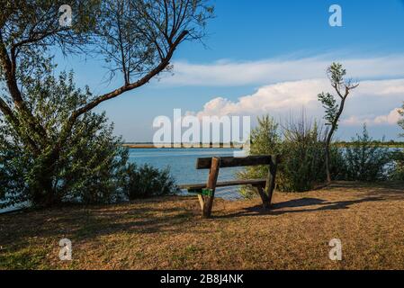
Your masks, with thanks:
M 213 14 L 205 0 L 72 0 L 73 25 L 63 27 L 62 4 L 6 1 L 0 11 L 2 206 L 120 198 L 127 150 L 92 109 L 168 69 L 175 49 L 201 39 Z M 123 84 L 101 95 L 76 89 L 72 75 L 52 76 L 57 50 L 103 55 Z

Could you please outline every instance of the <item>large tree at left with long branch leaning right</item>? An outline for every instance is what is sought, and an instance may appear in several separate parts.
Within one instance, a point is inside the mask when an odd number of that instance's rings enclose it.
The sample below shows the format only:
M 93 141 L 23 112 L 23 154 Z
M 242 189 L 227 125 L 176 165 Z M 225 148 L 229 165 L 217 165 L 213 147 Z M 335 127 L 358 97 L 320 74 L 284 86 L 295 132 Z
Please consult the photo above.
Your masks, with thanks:
M 49 194 L 56 193 L 55 175 L 64 147 L 76 136 L 77 123 L 98 104 L 146 85 L 167 71 L 181 43 L 202 38 L 213 12 L 205 0 L 76 0 L 70 1 L 73 25 L 68 27 L 59 25 L 62 4 L 58 0 L 2 0 L 0 12 L 0 81 L 4 88 L 0 117 L 17 139 L 15 143 L 27 148 L 35 160 L 31 169 L 36 173 L 30 174 L 35 181 L 28 182 L 34 183 L 29 190 L 44 205 L 56 199 Z M 77 105 L 67 104 L 54 127 L 49 127 L 28 86 L 35 76 L 52 69 L 56 48 L 65 55 L 101 53 L 112 76 L 122 76 L 122 85 L 106 94 L 86 93 Z

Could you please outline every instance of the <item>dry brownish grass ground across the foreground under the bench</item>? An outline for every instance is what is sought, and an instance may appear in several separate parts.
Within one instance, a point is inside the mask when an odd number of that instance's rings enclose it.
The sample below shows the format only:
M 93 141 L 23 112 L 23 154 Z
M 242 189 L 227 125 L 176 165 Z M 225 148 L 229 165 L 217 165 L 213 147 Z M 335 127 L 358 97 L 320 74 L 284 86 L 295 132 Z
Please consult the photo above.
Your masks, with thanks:
M 217 199 L 213 216 L 195 197 L 5 214 L 0 269 L 404 269 L 403 183 L 275 193 L 269 212 Z M 72 261 L 58 259 L 61 238 Z

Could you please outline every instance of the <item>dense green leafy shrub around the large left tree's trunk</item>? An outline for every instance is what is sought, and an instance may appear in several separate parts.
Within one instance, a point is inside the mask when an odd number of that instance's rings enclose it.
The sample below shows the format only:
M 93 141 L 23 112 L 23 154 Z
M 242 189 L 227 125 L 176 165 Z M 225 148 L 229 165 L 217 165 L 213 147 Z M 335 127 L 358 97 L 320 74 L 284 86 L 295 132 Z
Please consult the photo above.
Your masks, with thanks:
M 66 201 L 112 202 L 128 155 L 121 139 L 112 136 L 104 114 L 87 112 L 78 118 L 66 141 L 58 140 L 67 115 L 90 96 L 76 89 L 73 74 L 49 73 L 26 82 L 24 96 L 49 139 L 36 139 L 32 152 L 21 133 L 3 119 L 0 123 L 0 200 L 2 206 L 31 202 L 49 206 Z M 28 130 L 22 121 L 20 130 Z

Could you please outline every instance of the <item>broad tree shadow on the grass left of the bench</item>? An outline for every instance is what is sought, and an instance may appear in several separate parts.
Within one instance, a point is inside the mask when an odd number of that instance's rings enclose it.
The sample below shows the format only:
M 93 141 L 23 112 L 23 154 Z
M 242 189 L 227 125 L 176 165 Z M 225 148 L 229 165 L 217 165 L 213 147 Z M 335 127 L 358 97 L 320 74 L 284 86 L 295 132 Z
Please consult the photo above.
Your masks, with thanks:
M 181 201 L 180 198 L 175 199 L 175 203 Z M 27 220 L 27 216 L 30 220 Z M 27 239 L 37 237 L 85 241 L 121 233 L 175 233 L 184 231 L 184 225 L 195 217 L 195 211 L 185 207 L 136 207 L 131 203 L 31 211 L 4 215 L 0 219 L 0 244 L 19 246 L 26 243 Z

